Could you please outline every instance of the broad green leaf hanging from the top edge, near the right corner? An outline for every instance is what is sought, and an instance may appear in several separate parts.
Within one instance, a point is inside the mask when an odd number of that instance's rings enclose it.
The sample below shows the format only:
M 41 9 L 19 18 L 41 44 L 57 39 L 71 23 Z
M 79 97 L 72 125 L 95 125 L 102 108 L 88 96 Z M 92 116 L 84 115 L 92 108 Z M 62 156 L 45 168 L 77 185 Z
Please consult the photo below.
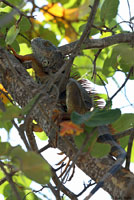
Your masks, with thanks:
M 112 21 L 112 19 L 117 15 L 118 6 L 119 0 L 105 0 L 100 13 L 101 20 L 108 20 L 109 22 Z

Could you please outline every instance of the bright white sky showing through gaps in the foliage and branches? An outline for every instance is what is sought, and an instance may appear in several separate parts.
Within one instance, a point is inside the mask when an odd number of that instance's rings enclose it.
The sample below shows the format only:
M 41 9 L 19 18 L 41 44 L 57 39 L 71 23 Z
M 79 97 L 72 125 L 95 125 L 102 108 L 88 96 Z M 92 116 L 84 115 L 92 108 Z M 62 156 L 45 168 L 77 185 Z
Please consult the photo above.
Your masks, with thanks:
M 41 1 L 41 0 L 38 1 L 38 3 L 41 3 L 41 4 L 42 4 L 42 2 L 45 2 L 45 1 Z M 133 11 L 132 13 L 134 13 L 134 1 L 129 0 L 129 3 L 131 5 L 131 9 Z M 119 13 L 120 13 L 120 16 L 122 16 L 125 20 L 129 20 L 127 0 L 121 0 L 121 4 L 119 7 Z M 122 21 L 120 19 L 120 17 L 118 17 L 118 21 Z M 128 26 L 126 26 L 126 25 L 123 25 L 123 28 L 128 30 Z M 115 74 L 114 78 L 118 80 L 118 83 L 121 86 L 122 83 L 124 82 L 125 77 L 121 72 L 119 72 L 119 73 Z M 107 89 L 109 91 L 110 96 L 112 96 L 112 94 L 115 93 L 115 91 L 118 89 L 118 87 L 112 78 L 108 79 L 108 83 L 109 84 L 107 85 Z M 105 92 L 105 90 L 102 86 L 94 86 L 94 87 L 95 87 L 95 90 L 97 90 L 97 91 L 101 91 L 102 93 Z M 132 93 L 132 88 L 134 88 L 134 81 L 128 81 L 125 88 L 126 88 L 125 90 L 123 89 L 122 92 L 114 98 L 113 108 L 122 108 L 122 113 L 129 113 L 129 112 L 134 113 L 134 107 L 130 106 L 130 102 L 131 103 L 134 102 L 134 95 Z M 126 94 L 128 99 L 130 100 L 130 102 L 128 102 L 128 100 L 124 97 L 124 94 Z M 7 133 L 4 129 L 0 130 L 0 136 L 2 136 L 3 142 L 7 141 Z M 10 139 L 11 139 L 11 145 L 15 146 L 16 141 L 18 141 L 18 139 L 19 139 L 15 128 L 13 128 L 12 131 L 10 132 Z M 23 143 L 21 142 L 21 140 L 19 140 L 19 141 L 20 141 L 19 143 L 23 146 Z M 45 141 L 40 141 L 40 139 L 38 139 L 38 138 L 37 138 L 37 142 L 38 142 L 40 148 L 45 145 Z M 63 156 L 57 155 L 57 152 L 59 152 L 59 150 L 56 150 L 56 152 L 55 152 L 55 149 L 48 149 L 42 155 L 45 157 L 45 159 L 48 160 L 49 163 L 52 163 L 53 165 L 55 165 L 58 161 L 60 161 L 63 158 Z M 131 168 L 133 168 L 133 166 L 131 166 Z M 72 179 L 71 182 L 68 182 L 66 186 L 68 186 L 70 189 L 73 188 L 73 191 L 77 194 L 83 189 L 83 180 L 85 181 L 85 183 L 88 183 L 88 181 L 90 179 L 83 172 L 81 172 L 81 170 L 79 170 L 77 168 L 74 178 Z M 76 185 L 77 185 L 77 187 L 76 187 Z M 38 188 L 40 189 L 40 186 L 35 183 L 32 184 L 32 187 L 36 188 L 36 190 Z M 91 188 L 89 190 L 91 190 Z M 84 193 L 84 196 L 89 194 L 89 190 L 87 191 L 86 194 Z M 45 194 L 48 194 L 49 198 L 51 197 L 51 194 L 48 191 L 45 190 L 44 192 L 45 192 Z M 102 189 L 100 189 L 91 198 L 91 200 L 99 200 L 100 197 L 101 197 L 101 199 L 111 200 L 111 197 L 109 196 L 109 194 L 106 193 L 105 191 L 103 191 Z M 52 197 L 52 198 L 53 198 L 52 200 L 54 200 L 54 197 Z M 84 197 L 81 196 L 79 198 L 79 200 L 83 200 L 83 198 Z M 4 200 L 4 198 L 1 195 L 0 195 L 0 199 Z M 45 200 L 45 198 L 43 200 Z

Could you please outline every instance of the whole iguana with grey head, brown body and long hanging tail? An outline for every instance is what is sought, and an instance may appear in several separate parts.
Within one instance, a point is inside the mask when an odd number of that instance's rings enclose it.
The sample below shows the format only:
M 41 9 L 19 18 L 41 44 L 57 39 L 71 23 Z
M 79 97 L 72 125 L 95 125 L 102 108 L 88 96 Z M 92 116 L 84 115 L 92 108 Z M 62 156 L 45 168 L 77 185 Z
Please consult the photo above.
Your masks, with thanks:
M 37 73 L 37 76 L 41 78 L 57 72 L 65 62 L 62 53 L 49 41 L 41 38 L 35 38 L 31 41 L 31 46 L 33 54 L 30 55 L 29 58 L 33 63 L 33 68 Z M 19 55 L 15 56 L 21 59 Z M 65 102 L 67 113 L 76 111 L 83 114 L 90 111 L 93 107 L 92 98 L 77 80 L 68 78 L 68 82 L 64 89 L 66 91 Z M 113 166 L 111 166 L 110 170 L 104 175 L 100 182 L 97 183 L 88 198 L 90 198 L 100 187 L 103 186 L 104 181 L 120 169 L 126 156 L 124 149 L 122 149 L 120 145 L 113 140 L 108 126 L 99 126 L 98 132 L 101 138 L 105 138 L 105 143 L 111 145 L 112 153 L 116 151 L 117 161 Z

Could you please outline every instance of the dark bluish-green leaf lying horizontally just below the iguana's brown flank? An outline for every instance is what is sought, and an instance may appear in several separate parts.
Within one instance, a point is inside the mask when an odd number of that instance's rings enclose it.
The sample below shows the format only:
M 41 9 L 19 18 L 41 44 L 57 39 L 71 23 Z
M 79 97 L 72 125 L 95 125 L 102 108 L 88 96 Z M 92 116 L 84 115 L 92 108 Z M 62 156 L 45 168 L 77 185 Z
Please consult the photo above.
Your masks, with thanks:
M 73 112 L 71 115 L 71 120 L 75 124 L 85 124 L 88 127 L 96 127 L 105 124 L 110 124 L 116 121 L 121 115 L 119 109 L 114 110 L 94 110 L 92 112 L 87 112 L 83 115 Z

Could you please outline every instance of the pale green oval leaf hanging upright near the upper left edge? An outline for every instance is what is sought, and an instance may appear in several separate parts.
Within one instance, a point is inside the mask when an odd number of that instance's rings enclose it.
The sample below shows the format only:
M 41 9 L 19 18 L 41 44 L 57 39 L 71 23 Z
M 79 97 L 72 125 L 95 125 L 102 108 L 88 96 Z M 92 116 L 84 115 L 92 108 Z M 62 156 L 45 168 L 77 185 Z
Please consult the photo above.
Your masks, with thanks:
M 19 32 L 20 32 L 20 29 L 17 28 L 15 25 L 11 26 L 11 28 L 7 32 L 7 36 L 5 39 L 6 44 L 11 45 L 15 41 Z

